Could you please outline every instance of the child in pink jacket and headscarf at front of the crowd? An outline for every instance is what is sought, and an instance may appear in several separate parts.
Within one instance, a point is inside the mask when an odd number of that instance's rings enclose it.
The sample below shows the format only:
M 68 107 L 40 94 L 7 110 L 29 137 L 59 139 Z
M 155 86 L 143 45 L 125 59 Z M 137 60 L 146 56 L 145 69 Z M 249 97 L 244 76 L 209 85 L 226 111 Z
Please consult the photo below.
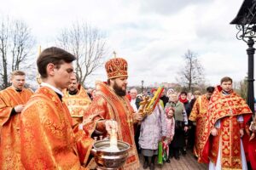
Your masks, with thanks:
M 166 107 L 166 145 L 168 145 L 169 147 L 166 148 L 166 152 L 167 152 L 167 163 L 170 163 L 170 157 L 169 157 L 169 151 L 170 151 L 170 144 L 172 142 L 173 136 L 174 136 L 174 129 L 175 129 L 175 120 L 174 120 L 174 108 L 173 107 Z

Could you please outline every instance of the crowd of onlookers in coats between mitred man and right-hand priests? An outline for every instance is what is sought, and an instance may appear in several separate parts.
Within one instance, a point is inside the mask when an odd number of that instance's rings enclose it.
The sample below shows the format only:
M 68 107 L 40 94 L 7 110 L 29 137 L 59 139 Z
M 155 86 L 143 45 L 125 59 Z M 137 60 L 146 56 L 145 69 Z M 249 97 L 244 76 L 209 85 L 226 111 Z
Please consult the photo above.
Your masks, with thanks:
M 207 88 L 207 101 L 210 99 L 213 90 L 213 87 Z M 153 88 L 148 93 L 137 94 L 137 90 L 131 88 L 130 97 L 128 97 L 131 100 L 131 106 L 135 111 L 138 111 L 139 102 L 143 100 L 143 97 L 154 95 L 154 92 L 155 89 Z M 197 148 L 195 145 L 195 143 L 197 144 L 195 142 L 195 139 L 197 139 L 195 130 L 196 127 L 201 127 L 201 125 L 195 126 L 195 119 L 190 118 L 192 117 L 190 113 L 193 105 L 198 105 L 195 103 L 195 101 L 198 101 L 196 100 L 198 97 L 201 97 L 199 91 L 195 91 L 195 95 L 188 96 L 185 91 L 178 93 L 172 88 L 168 89 L 166 94 L 165 91 L 161 94 L 160 104 L 152 114 L 143 119 L 142 127 L 137 127 L 135 139 L 137 141 L 137 150 L 139 152 L 142 150 L 144 156 L 144 168 L 150 165 L 151 169 L 154 169 L 152 164 L 155 162 L 154 156 L 158 154 L 157 149 L 160 140 L 165 141 L 168 145 L 167 163 L 171 162 L 172 157 L 179 160 L 180 156 L 186 156 L 187 150 L 195 150 Z M 196 116 L 195 112 L 192 112 L 194 117 Z M 196 131 L 198 132 L 198 130 Z M 145 149 L 154 151 L 154 154 L 149 155 L 151 163 L 148 163 L 148 153 L 143 151 Z M 195 156 L 197 156 L 196 153 L 195 151 Z

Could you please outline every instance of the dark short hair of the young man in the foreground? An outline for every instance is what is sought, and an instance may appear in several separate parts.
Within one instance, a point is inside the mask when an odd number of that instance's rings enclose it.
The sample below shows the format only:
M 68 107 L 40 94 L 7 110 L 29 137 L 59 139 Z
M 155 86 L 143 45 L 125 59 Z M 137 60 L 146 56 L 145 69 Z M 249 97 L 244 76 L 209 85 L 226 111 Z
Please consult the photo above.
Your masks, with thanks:
M 38 57 L 38 72 L 42 78 L 46 78 L 48 77 L 46 67 L 49 63 L 54 64 L 59 69 L 60 65 L 64 62 L 71 63 L 75 59 L 76 57 L 73 54 L 68 53 L 64 49 L 55 47 L 46 48 Z

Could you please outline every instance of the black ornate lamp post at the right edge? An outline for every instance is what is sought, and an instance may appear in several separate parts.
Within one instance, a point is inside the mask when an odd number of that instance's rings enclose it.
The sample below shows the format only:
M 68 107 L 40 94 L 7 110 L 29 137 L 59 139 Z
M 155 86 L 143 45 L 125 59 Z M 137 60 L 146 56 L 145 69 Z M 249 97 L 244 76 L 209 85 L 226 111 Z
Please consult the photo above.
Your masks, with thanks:
M 244 0 L 241 4 L 236 18 L 230 22 L 235 24 L 238 30 L 236 38 L 247 42 L 248 55 L 248 79 L 247 79 L 247 104 L 254 113 L 254 88 L 253 88 L 253 70 L 254 61 L 253 55 L 255 48 L 253 48 L 254 39 L 256 37 L 256 0 Z

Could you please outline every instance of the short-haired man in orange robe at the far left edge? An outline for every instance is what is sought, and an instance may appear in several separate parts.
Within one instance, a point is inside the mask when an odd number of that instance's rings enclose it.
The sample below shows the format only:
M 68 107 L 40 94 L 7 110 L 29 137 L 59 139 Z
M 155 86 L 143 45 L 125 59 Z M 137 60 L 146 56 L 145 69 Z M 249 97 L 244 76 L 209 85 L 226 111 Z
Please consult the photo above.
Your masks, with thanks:
M 9 88 L 0 91 L 0 169 L 20 169 L 20 112 L 32 91 L 24 88 L 26 74 L 11 73 Z

